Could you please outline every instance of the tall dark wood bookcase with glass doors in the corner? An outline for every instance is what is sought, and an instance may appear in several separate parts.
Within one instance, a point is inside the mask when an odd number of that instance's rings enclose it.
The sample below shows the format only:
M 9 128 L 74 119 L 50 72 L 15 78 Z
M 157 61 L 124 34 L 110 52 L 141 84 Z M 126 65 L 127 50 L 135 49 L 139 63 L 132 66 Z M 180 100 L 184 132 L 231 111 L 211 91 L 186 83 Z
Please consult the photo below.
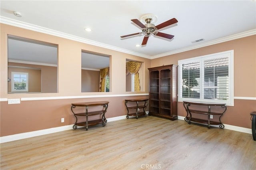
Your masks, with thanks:
M 170 120 L 177 116 L 178 66 L 164 65 L 149 70 L 149 115 Z

